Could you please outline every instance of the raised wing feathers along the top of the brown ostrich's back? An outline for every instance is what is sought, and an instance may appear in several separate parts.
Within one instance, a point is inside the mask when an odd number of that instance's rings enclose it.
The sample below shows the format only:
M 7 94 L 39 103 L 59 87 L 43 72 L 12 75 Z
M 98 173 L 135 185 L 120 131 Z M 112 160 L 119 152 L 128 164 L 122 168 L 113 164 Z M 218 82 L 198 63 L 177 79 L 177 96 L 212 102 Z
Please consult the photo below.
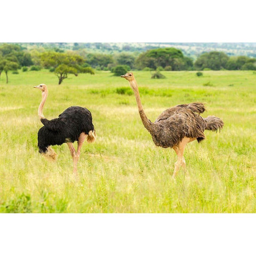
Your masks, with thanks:
M 181 112 L 184 113 L 186 112 L 186 110 L 192 111 L 199 115 L 205 111 L 205 106 L 204 106 L 204 103 L 201 103 L 201 102 L 193 102 L 189 104 L 177 105 L 175 107 L 164 110 L 163 113 L 157 117 L 155 122 L 168 119 L 170 116 L 174 114 L 179 114 Z

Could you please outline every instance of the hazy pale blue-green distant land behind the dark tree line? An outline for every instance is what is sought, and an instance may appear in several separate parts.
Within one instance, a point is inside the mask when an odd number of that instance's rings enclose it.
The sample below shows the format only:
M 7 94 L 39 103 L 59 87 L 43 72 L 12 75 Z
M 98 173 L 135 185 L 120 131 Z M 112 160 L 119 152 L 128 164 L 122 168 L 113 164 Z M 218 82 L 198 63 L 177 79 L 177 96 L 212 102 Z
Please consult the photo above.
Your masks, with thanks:
M 210 51 L 222 51 L 232 55 L 246 55 L 256 57 L 256 43 L 19 43 L 23 47 L 44 47 L 46 49 L 59 48 L 62 50 L 85 49 L 87 52 L 115 53 L 134 52 L 141 53 L 159 47 L 175 47 L 183 54 L 193 59 Z

